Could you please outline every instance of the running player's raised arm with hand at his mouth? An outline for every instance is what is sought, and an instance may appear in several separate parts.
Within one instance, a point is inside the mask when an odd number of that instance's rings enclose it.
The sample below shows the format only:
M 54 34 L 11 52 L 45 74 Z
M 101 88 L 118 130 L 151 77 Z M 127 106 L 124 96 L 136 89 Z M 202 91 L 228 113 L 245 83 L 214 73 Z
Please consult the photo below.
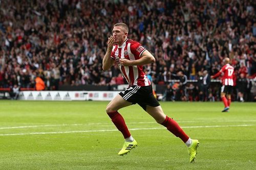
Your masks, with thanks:
M 112 52 L 112 48 L 113 48 L 113 45 L 114 45 L 114 36 L 111 36 L 108 40 L 108 48 L 106 50 L 106 54 L 103 58 L 103 61 L 102 61 L 102 69 L 103 70 L 108 70 L 110 69 L 110 67 L 113 65 L 114 63 L 114 60 L 111 59 L 111 52 Z

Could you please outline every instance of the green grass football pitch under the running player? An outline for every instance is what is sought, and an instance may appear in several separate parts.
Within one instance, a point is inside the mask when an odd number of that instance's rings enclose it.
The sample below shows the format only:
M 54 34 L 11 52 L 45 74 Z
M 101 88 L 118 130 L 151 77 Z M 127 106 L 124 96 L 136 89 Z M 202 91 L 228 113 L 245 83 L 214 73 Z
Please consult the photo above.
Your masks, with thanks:
M 256 168 L 255 103 L 233 102 L 230 111 L 222 113 L 220 102 L 162 102 L 165 114 L 199 139 L 195 163 L 189 163 L 185 144 L 138 105 L 120 110 L 127 126 L 135 129 L 131 133 L 138 147 L 118 156 L 121 133 L 97 131 L 116 129 L 105 114 L 107 104 L 0 101 L 0 169 Z M 31 134 L 37 132 L 56 133 Z

